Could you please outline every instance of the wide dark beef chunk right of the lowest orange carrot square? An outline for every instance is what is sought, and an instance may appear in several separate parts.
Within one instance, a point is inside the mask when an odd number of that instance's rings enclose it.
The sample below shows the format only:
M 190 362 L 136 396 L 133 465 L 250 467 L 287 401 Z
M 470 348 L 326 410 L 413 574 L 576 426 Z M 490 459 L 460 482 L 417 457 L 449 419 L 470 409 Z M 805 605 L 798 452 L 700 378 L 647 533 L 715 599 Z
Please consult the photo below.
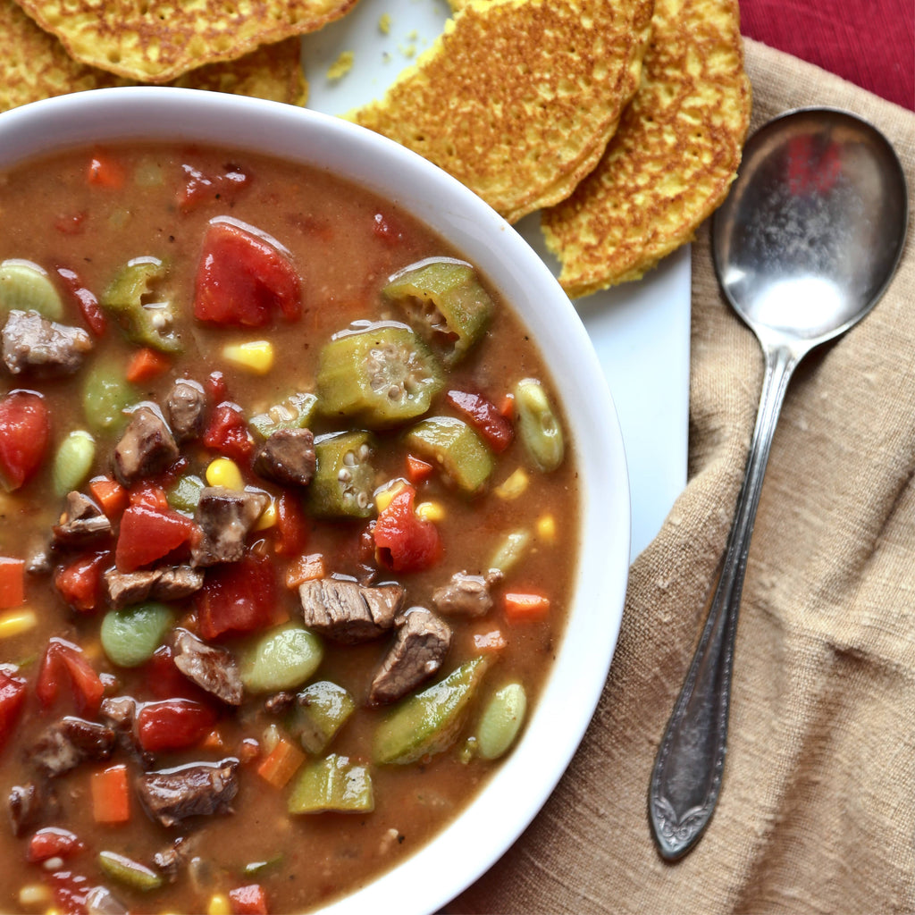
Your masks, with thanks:
M 231 813 L 238 793 L 237 770 L 237 759 L 223 759 L 146 772 L 136 780 L 136 791 L 154 820 L 174 826 L 188 816 Z

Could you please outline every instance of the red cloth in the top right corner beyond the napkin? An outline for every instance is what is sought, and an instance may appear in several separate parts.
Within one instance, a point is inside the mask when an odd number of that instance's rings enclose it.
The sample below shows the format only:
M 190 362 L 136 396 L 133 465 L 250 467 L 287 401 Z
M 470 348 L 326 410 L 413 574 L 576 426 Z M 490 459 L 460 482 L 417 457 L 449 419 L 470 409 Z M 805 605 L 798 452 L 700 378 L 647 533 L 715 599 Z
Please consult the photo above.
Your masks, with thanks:
M 915 110 L 912 0 L 740 0 L 740 28 Z

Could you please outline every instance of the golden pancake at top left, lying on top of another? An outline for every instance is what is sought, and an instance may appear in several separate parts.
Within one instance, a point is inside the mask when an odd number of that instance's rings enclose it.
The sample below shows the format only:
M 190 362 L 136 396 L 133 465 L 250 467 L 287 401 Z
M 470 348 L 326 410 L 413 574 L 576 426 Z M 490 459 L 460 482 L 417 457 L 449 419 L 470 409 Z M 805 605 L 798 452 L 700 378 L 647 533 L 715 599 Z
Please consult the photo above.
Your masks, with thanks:
M 356 0 L 17 0 L 70 57 L 128 80 L 163 83 L 304 35 Z

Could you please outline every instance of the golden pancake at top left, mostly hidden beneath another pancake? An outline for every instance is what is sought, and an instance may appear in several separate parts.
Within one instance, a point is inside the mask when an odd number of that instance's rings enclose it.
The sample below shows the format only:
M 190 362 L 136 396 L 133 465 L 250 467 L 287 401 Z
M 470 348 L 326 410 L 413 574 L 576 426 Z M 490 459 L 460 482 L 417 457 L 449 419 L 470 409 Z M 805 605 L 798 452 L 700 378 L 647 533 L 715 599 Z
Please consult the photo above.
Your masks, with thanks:
M 302 105 L 307 86 L 299 50 L 298 39 L 289 38 L 240 60 L 193 70 L 176 85 Z M 128 85 L 134 83 L 77 63 L 13 0 L 0 0 L 0 111 L 52 95 Z

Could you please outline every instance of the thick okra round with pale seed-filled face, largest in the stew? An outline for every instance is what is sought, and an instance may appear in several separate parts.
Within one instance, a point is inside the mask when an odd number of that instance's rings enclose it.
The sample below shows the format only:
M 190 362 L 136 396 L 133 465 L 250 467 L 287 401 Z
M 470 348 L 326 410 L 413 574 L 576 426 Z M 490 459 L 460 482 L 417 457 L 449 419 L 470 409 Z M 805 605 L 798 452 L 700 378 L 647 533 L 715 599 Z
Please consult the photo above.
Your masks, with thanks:
M 383 429 L 425 413 L 445 380 L 411 328 L 379 323 L 337 334 L 318 361 L 318 404 Z

